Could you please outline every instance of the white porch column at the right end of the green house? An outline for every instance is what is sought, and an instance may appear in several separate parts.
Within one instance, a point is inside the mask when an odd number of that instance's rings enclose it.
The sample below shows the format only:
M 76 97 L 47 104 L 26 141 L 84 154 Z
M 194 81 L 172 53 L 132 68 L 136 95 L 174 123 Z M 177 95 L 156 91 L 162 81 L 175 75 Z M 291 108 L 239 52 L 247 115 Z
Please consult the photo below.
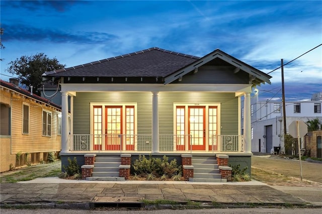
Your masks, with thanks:
M 245 93 L 244 97 L 244 153 L 250 153 L 252 149 L 251 93 Z

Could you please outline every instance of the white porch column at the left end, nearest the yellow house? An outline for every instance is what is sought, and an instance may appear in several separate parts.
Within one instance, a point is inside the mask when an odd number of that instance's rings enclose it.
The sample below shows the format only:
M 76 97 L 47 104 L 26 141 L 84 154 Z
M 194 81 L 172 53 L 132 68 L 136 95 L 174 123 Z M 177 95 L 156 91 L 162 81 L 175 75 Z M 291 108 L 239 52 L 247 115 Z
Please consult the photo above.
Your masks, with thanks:
M 61 91 L 61 152 L 68 152 L 68 94 Z

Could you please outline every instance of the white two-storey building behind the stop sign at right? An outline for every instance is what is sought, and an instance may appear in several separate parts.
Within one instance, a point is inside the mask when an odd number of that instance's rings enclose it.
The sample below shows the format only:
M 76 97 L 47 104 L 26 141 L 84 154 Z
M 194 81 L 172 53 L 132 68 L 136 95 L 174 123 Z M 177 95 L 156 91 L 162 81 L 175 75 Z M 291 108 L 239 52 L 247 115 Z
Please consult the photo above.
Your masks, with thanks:
M 322 121 L 322 100 L 310 101 L 286 101 L 285 118 L 286 133 L 293 121 L 307 121 L 319 119 Z M 284 122 L 282 101 L 258 101 L 258 96 L 251 99 L 251 135 L 252 152 L 270 153 L 274 147 L 281 147 L 280 152 L 285 153 Z M 243 108 L 241 112 L 243 113 Z M 243 124 L 243 114 L 241 124 Z M 304 148 L 304 138 L 301 140 L 301 148 Z

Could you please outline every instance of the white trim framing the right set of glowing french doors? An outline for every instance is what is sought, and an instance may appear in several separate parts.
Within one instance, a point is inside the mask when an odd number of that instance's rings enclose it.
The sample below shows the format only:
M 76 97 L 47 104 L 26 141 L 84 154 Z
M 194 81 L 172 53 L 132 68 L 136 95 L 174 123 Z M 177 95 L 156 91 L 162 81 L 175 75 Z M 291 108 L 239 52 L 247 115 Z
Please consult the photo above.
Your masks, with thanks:
M 185 106 L 185 135 L 189 135 L 188 132 L 188 123 L 189 123 L 189 118 L 188 118 L 188 107 L 189 106 L 205 106 L 205 126 L 206 126 L 206 143 L 205 143 L 205 151 L 209 151 L 209 106 L 216 106 L 217 107 L 217 135 L 220 135 L 220 102 L 215 102 L 215 103 L 174 103 L 173 104 L 173 133 L 176 135 L 176 124 L 177 124 L 177 106 Z M 177 151 L 177 146 L 176 142 L 174 142 L 174 151 Z M 186 151 L 189 151 L 188 149 L 189 145 L 186 144 Z

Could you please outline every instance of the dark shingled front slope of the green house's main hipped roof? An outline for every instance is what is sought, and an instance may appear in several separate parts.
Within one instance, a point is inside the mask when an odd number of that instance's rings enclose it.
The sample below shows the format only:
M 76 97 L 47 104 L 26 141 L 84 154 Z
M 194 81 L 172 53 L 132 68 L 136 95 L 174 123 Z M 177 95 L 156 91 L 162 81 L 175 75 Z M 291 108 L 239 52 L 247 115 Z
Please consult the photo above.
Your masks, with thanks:
M 200 57 L 157 47 L 103 59 L 84 65 L 59 69 L 46 76 L 166 77 Z

